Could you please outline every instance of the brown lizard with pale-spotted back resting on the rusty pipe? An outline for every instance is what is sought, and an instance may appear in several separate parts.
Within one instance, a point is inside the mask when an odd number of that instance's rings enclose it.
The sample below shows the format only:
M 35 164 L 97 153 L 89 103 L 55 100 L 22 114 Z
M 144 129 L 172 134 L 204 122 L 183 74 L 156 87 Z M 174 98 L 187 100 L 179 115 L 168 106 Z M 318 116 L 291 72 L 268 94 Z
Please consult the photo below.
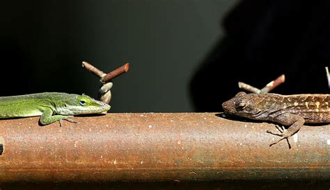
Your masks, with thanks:
M 278 128 L 281 133 L 267 131 L 283 137 L 278 141 L 294 135 L 304 123 L 330 123 L 330 94 L 281 95 L 239 92 L 234 98 L 223 103 L 222 107 L 229 114 L 290 126 L 288 130 Z

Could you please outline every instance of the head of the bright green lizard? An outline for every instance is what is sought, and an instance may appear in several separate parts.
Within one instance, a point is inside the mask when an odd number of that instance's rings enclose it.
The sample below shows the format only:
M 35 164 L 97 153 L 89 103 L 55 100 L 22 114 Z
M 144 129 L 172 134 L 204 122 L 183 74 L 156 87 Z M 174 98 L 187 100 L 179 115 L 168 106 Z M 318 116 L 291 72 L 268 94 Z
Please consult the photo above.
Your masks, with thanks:
M 56 106 L 56 112 L 63 115 L 100 114 L 110 110 L 110 105 L 97 101 L 85 94 L 68 94 L 61 105 Z

